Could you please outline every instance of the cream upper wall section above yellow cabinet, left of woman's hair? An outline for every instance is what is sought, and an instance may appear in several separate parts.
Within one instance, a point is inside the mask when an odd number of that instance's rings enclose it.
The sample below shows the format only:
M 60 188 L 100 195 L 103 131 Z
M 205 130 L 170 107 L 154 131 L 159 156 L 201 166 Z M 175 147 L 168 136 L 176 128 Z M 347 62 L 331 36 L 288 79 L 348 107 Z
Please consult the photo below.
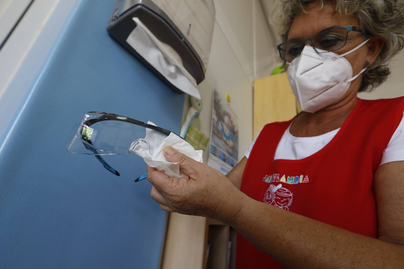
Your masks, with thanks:
M 276 41 L 259 0 L 217 0 L 216 21 L 251 83 L 279 64 Z

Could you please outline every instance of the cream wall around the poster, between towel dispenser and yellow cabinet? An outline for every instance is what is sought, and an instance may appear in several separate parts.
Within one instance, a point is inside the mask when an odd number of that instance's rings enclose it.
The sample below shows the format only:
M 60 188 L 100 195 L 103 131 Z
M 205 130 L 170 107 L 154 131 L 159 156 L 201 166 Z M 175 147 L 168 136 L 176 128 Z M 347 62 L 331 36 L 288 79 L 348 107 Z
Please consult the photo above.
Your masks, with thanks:
M 210 137 L 212 95 L 215 88 L 222 96 L 230 94 L 231 107 L 238 116 L 239 160 L 252 142 L 252 86 L 256 75 L 269 75 L 274 63 L 266 48 L 270 32 L 258 0 L 217 0 L 216 22 L 206 79 L 198 85 L 204 108 L 201 131 Z M 255 7 L 255 17 L 253 17 Z M 255 19 L 255 21 L 253 20 Z M 254 46 L 253 27 L 256 27 Z M 255 50 L 255 53 L 254 53 Z M 255 68 L 254 68 L 255 67 Z M 256 71 L 256 72 L 254 72 Z M 189 109 L 185 102 L 184 116 Z M 208 150 L 204 152 L 204 161 Z

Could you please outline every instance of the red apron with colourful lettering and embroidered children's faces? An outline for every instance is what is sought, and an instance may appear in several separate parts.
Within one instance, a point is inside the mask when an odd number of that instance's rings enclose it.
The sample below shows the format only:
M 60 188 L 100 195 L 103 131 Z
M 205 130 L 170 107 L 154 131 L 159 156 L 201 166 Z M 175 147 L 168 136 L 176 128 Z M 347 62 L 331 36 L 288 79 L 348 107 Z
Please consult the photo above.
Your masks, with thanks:
M 336 136 L 301 160 L 274 161 L 291 120 L 265 125 L 248 158 L 240 190 L 268 206 L 376 238 L 373 175 L 403 110 L 402 97 L 359 99 Z M 238 234 L 236 268 L 284 267 Z

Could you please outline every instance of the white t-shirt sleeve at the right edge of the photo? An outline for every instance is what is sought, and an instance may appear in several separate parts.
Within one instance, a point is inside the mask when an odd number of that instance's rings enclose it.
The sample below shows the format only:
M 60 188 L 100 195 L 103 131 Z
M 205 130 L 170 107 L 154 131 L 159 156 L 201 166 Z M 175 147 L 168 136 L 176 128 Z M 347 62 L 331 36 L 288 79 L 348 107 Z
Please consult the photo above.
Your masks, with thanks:
M 404 115 L 383 151 L 380 165 L 397 161 L 404 161 Z

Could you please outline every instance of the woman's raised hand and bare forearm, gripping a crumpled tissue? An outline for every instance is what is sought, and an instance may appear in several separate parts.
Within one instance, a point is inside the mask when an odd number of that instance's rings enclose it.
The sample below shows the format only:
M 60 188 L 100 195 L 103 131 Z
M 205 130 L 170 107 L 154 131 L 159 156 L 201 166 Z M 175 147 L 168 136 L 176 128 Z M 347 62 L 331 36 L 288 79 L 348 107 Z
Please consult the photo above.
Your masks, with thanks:
M 164 156 L 169 162 L 179 163 L 181 171 L 187 176 L 168 177 L 155 168 L 147 167 L 148 179 L 153 184 L 151 197 L 161 204 L 162 209 L 219 219 L 288 267 L 402 268 L 404 265 L 404 249 L 399 245 L 361 236 L 252 200 L 219 171 L 173 148 L 166 148 Z M 395 206 L 400 205 L 400 196 L 397 201 Z M 383 202 L 386 201 L 381 200 L 381 204 Z M 400 212 L 396 213 L 396 218 L 400 219 Z M 380 211 L 379 215 L 383 216 Z M 402 225 L 396 227 L 397 230 L 402 229 Z

